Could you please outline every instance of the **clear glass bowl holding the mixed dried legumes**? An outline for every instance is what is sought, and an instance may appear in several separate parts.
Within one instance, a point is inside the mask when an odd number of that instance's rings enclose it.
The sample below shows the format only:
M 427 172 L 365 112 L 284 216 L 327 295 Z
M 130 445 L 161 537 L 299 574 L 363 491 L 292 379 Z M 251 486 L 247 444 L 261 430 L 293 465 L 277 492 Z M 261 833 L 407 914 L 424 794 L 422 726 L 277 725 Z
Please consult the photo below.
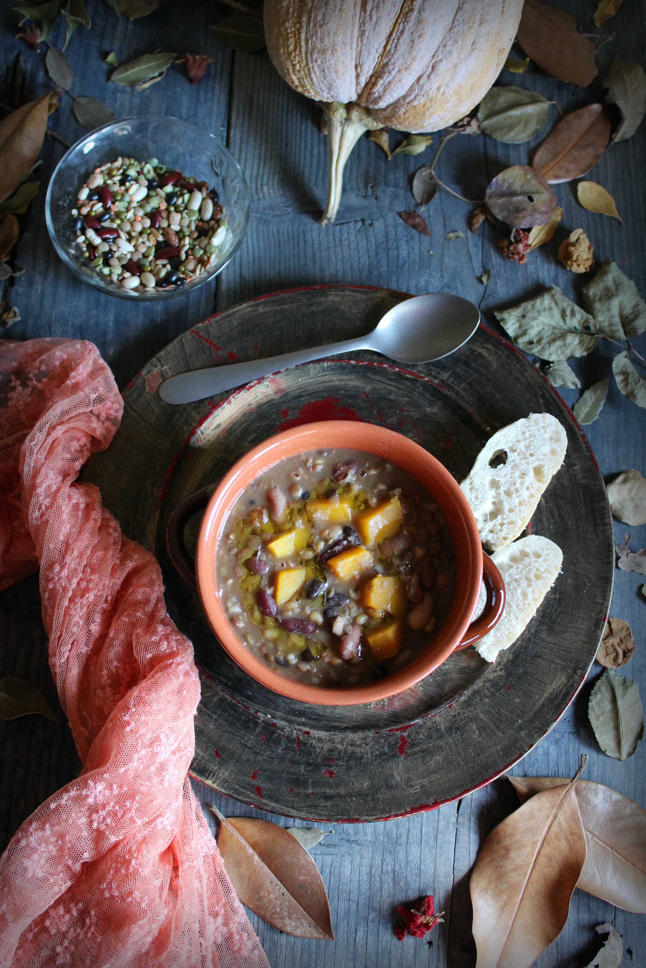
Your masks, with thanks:
M 94 169 L 120 155 L 138 161 L 158 158 L 161 165 L 208 182 L 217 190 L 228 229 L 218 261 L 208 273 L 200 274 L 184 286 L 135 291 L 112 283 L 90 267 L 77 246 L 72 209 L 77 207 L 78 190 Z M 56 252 L 84 283 L 120 299 L 173 299 L 203 286 L 222 272 L 247 230 L 250 198 L 242 168 L 217 137 L 180 118 L 143 115 L 97 128 L 63 155 L 49 181 L 46 223 Z

